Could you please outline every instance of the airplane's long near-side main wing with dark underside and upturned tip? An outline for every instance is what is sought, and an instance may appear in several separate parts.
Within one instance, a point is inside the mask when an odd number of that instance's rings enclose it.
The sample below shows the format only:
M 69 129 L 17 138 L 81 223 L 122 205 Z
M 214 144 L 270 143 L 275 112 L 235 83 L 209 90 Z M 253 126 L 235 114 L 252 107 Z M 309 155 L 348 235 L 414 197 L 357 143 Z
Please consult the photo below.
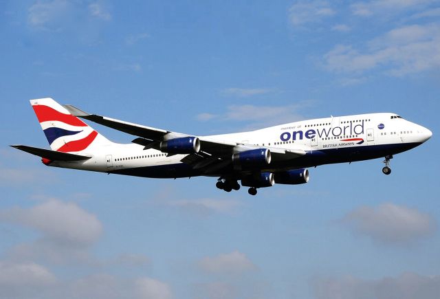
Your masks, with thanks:
M 164 140 L 192 136 L 184 133 L 156 129 L 151 126 L 143 126 L 141 124 L 133 124 L 131 122 L 115 120 L 113 118 L 107 118 L 101 115 L 89 114 L 72 105 L 64 105 L 64 107 L 70 113 L 72 113 L 72 115 L 75 115 L 79 118 L 91 120 L 92 122 L 102 124 L 103 126 L 108 126 L 109 128 L 138 136 L 138 138 L 133 140 L 133 142 L 145 146 L 145 149 L 159 149 L 160 142 Z M 195 168 L 203 168 L 208 170 L 213 170 L 217 167 L 221 168 L 231 163 L 230 155 L 233 153 L 261 148 L 261 146 L 255 146 L 253 144 L 239 144 L 236 142 L 217 140 L 216 137 L 211 136 L 201 136 L 198 138 L 200 140 L 200 152 L 187 155 L 181 160 L 181 162 L 190 164 Z M 272 160 L 274 162 L 295 159 L 296 157 L 303 156 L 306 153 L 303 150 L 286 150 L 285 148 L 276 148 L 272 146 L 265 146 L 265 148 L 270 149 L 272 153 Z

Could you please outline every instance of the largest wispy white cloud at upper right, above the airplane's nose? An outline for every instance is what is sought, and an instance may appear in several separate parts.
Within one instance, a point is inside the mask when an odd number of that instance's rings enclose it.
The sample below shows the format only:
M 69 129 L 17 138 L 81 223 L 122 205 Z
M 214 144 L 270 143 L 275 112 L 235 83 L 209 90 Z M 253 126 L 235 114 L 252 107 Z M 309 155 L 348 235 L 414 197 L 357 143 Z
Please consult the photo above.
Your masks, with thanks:
M 409 25 L 391 30 L 368 43 L 364 52 L 337 45 L 324 56 L 325 67 L 336 73 L 362 74 L 382 67 L 392 76 L 440 67 L 440 26 Z

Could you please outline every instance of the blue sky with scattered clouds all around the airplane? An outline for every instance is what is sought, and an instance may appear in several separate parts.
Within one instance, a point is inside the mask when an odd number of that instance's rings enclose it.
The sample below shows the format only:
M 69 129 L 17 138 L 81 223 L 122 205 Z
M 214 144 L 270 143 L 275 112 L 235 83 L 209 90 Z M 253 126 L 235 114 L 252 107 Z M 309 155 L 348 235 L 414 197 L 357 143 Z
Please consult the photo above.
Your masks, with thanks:
M 2 1 L 0 298 L 437 298 L 440 5 Z M 250 197 L 214 178 L 47 168 L 28 100 L 209 135 L 395 112 L 392 160 Z M 116 142 L 132 136 L 91 124 Z

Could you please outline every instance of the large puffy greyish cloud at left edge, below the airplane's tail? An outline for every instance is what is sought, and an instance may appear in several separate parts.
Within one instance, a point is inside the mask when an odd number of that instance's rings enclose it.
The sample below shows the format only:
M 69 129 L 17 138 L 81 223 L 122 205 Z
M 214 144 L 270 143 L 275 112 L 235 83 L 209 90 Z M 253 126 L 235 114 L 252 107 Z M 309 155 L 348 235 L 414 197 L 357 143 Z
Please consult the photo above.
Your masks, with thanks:
M 13 261 L 96 263 L 89 248 L 102 233 L 102 225 L 94 214 L 76 203 L 50 199 L 32 208 L 0 210 L 0 221 L 23 225 L 41 234 L 32 242 L 10 248 L 6 255 Z

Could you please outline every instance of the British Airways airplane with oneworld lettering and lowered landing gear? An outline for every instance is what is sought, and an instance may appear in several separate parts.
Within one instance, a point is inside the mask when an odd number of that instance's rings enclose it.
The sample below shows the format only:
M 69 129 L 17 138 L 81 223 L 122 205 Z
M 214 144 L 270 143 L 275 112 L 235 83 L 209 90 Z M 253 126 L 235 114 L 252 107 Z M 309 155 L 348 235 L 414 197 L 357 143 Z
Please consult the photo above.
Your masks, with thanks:
M 12 145 L 39 156 L 47 166 L 150 178 L 218 177 L 230 192 L 274 184 L 305 184 L 307 168 L 384 157 L 390 159 L 426 142 L 432 132 L 396 113 L 369 113 L 300 120 L 265 129 L 195 136 L 89 114 L 52 98 L 30 100 L 52 150 Z M 134 135 L 111 142 L 83 120 Z

